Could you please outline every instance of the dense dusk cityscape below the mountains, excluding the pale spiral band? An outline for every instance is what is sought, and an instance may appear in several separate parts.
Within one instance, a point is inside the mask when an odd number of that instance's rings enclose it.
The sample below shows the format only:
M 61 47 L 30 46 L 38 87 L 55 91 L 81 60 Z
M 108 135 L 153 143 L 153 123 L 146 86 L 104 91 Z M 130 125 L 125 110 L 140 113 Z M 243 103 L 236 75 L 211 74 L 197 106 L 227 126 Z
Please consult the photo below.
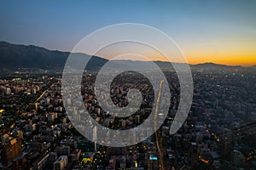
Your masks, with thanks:
M 138 88 L 148 99 L 140 111 L 120 118 L 102 111 L 97 104 L 93 91 L 96 74 L 84 72 L 81 91 L 84 106 L 96 122 L 125 129 L 147 118 L 154 92 L 145 78 L 129 72 L 116 77 L 110 91 L 116 105 L 127 105 L 129 88 Z M 165 71 L 172 91 L 165 122 L 148 139 L 126 147 L 93 143 L 73 127 L 61 99 L 60 73 L 20 70 L 4 74 L 0 81 L 0 168 L 255 169 L 255 70 L 194 68 L 192 74 L 194 99 L 183 127 L 170 135 L 179 102 L 179 83 L 175 71 Z M 74 115 L 76 121 L 83 119 L 79 111 Z M 97 135 L 94 127 L 83 130 L 86 135 Z

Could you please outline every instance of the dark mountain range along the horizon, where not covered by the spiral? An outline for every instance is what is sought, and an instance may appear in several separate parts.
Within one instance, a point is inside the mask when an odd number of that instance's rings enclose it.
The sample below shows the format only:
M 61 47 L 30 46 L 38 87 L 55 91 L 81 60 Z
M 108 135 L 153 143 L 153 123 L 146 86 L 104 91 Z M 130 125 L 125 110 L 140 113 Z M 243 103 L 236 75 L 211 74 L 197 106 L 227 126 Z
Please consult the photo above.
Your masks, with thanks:
M 9 42 L 0 42 L 0 68 L 16 70 L 18 68 L 34 68 L 43 70 L 63 69 L 70 52 L 61 52 L 49 50 L 33 45 L 17 45 Z M 87 54 L 81 54 L 89 57 Z M 87 64 L 87 70 L 95 70 L 105 65 L 108 59 L 93 56 Z M 126 61 L 135 62 L 135 61 Z M 144 61 L 140 61 L 144 62 Z M 118 64 L 118 62 L 117 62 Z M 169 62 L 155 61 L 160 68 L 170 68 Z M 241 68 L 241 66 L 218 65 L 214 63 L 203 63 L 190 65 L 196 69 L 223 69 L 223 68 Z M 256 65 L 252 66 L 256 68 Z

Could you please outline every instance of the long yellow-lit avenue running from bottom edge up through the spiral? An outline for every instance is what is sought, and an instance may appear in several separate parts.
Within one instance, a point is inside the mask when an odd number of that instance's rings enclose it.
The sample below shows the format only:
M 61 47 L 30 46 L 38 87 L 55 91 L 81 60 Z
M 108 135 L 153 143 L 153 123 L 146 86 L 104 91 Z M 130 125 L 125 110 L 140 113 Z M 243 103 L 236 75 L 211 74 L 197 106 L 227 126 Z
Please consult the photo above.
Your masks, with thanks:
M 158 116 L 158 105 L 160 103 L 160 96 L 161 96 L 161 91 L 162 91 L 162 84 L 163 84 L 163 80 L 160 82 L 160 88 L 159 88 L 159 93 L 158 93 L 158 97 L 156 99 L 156 105 L 155 105 L 155 110 L 154 110 L 154 131 L 155 131 L 155 139 L 156 139 L 156 146 L 157 146 L 157 150 L 160 156 L 160 169 L 165 170 L 165 163 L 164 163 L 164 156 L 163 156 L 163 152 L 162 152 L 162 147 L 159 141 L 159 136 L 157 134 L 157 128 L 156 128 L 156 124 L 157 124 L 157 116 Z

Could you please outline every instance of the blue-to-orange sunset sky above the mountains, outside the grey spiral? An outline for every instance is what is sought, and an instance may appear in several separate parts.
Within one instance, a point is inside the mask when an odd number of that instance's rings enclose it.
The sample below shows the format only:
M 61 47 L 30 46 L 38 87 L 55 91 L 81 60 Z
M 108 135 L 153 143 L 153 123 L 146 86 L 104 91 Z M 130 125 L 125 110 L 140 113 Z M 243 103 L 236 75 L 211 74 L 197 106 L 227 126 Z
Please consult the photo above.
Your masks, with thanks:
M 256 65 L 255 16 L 254 0 L 10 0 L 0 5 L 0 41 L 71 51 L 103 26 L 140 23 L 166 32 L 189 63 Z

